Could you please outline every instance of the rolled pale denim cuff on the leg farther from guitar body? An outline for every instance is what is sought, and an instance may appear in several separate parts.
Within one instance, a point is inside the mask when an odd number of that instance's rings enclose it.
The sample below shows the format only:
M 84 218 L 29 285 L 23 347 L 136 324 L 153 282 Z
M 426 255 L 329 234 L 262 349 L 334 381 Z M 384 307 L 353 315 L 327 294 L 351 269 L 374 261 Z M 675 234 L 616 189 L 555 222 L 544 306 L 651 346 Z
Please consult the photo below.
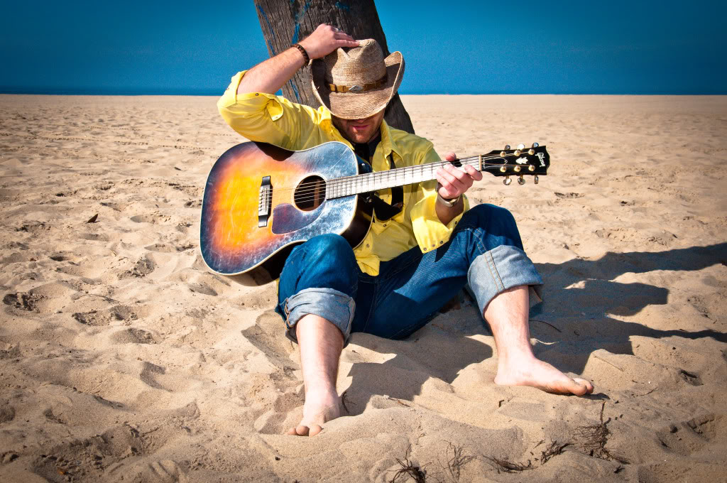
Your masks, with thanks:
M 530 292 L 542 300 L 543 281 L 523 250 L 500 245 L 479 255 L 467 271 L 467 282 L 483 314 L 490 301 L 500 292 L 528 285 Z

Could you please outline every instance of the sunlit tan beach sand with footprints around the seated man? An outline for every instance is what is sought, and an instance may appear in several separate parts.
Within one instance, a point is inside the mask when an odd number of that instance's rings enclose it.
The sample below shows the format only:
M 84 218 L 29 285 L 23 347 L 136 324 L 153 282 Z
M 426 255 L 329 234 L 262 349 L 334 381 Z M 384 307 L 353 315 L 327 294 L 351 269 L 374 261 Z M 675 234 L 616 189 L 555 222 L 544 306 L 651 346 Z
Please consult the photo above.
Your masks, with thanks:
M 534 350 L 595 393 L 495 386 L 463 297 L 353 335 L 349 415 L 313 439 L 281 434 L 302 383 L 274 285 L 201 260 L 207 172 L 243 141 L 215 100 L 0 96 L 1 481 L 727 481 L 727 97 L 403 96 L 440 153 L 547 145 L 538 185 L 470 200 L 515 215 Z

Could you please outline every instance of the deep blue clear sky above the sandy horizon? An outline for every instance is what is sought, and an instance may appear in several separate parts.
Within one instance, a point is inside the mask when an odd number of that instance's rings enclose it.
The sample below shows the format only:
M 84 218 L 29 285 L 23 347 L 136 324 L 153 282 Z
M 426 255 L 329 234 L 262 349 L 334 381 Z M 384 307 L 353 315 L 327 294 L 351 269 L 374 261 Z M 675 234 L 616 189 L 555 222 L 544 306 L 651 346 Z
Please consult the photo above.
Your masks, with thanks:
M 727 94 L 725 1 L 379 0 L 377 9 L 406 59 L 403 94 Z M 3 10 L 0 92 L 217 95 L 268 57 L 252 0 Z

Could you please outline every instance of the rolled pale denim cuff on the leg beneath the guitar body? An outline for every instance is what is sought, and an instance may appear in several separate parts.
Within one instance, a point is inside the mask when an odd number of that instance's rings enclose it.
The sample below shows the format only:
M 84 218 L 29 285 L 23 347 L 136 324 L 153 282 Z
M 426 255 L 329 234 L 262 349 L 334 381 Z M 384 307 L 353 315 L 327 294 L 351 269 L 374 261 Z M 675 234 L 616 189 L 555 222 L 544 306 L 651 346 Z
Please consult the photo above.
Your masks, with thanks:
M 323 317 L 338 327 L 343 334 L 345 345 L 351 335 L 351 322 L 356 310 L 356 302 L 349 295 L 338 290 L 310 288 L 286 298 L 283 310 L 285 311 L 285 324 L 288 327 L 286 335 L 293 342 L 298 342 L 295 337 L 295 324 L 303 316 L 313 314 Z

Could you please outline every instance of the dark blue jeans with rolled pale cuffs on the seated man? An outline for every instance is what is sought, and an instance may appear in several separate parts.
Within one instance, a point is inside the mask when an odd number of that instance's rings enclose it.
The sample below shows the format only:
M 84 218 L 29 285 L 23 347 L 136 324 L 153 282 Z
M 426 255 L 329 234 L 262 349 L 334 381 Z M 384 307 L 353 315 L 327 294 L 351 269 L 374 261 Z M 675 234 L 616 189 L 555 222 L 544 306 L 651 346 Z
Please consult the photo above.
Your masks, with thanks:
M 449 241 L 422 253 L 414 247 L 382 262 L 378 276 L 364 274 L 348 241 L 321 235 L 295 247 L 278 285 L 276 312 L 295 339 L 295 324 L 315 314 L 352 332 L 406 338 L 429 322 L 465 284 L 480 313 L 500 292 L 529 285 L 540 295 L 542 279 L 523 252 L 507 209 L 479 204 L 462 216 Z

